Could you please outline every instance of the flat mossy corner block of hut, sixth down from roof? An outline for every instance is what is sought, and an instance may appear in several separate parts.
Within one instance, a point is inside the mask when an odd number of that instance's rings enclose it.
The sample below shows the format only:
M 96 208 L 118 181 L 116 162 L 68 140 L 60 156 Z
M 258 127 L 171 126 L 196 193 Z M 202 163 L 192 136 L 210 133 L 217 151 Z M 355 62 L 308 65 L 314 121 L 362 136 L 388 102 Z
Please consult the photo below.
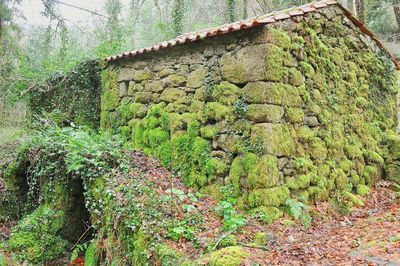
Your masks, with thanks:
M 250 207 L 283 205 L 289 198 L 288 187 L 273 187 L 265 189 L 255 189 L 249 195 Z

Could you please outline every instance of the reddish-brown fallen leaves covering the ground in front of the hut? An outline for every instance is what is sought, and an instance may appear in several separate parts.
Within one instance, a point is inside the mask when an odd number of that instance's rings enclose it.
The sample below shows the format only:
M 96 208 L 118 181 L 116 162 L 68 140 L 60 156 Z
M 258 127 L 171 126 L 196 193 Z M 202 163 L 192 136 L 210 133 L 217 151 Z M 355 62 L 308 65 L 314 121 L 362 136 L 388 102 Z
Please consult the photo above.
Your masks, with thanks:
M 192 192 L 156 160 L 138 152 L 132 153 L 131 158 L 134 168 L 144 173 L 160 194 L 168 193 L 171 184 L 185 193 Z M 290 219 L 288 216 L 270 226 L 246 216 L 247 224 L 237 233 L 238 242 L 249 254 L 242 264 L 400 265 L 400 200 L 390 186 L 386 181 L 379 182 L 364 198 L 364 206 L 347 215 L 339 215 L 327 202 L 313 206 L 313 223 L 308 229 L 299 223 L 288 226 L 284 222 Z M 168 240 L 168 244 L 187 257 L 198 258 L 205 252 L 206 243 L 217 241 L 223 234 L 221 219 L 214 211 L 216 205 L 210 197 L 195 203 L 196 209 L 204 215 L 204 224 L 199 225 L 196 235 L 200 239 L 200 249 L 182 239 Z M 179 218 L 184 214 L 176 209 L 174 216 Z M 0 242 L 8 238 L 11 225 L 0 224 Z M 267 246 L 249 247 L 258 232 L 268 233 Z M 207 264 L 207 258 L 200 263 Z

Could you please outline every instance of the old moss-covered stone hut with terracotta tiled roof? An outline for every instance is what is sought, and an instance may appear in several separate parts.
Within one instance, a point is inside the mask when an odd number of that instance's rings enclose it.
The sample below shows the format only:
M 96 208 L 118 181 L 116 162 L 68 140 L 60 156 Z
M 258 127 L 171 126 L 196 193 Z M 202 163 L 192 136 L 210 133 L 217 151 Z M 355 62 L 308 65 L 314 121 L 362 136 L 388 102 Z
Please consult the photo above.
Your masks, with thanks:
M 396 61 L 335 1 L 107 59 L 101 127 L 187 185 L 274 212 L 397 178 Z

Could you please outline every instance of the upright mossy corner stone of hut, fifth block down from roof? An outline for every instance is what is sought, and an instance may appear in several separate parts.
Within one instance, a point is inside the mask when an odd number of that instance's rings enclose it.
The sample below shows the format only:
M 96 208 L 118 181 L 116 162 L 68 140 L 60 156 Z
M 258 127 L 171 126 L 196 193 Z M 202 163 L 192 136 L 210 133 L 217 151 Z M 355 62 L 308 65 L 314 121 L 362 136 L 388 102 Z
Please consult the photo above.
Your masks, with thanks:
M 250 188 L 269 188 L 278 184 L 282 174 L 278 169 L 278 158 L 263 155 L 249 171 Z

